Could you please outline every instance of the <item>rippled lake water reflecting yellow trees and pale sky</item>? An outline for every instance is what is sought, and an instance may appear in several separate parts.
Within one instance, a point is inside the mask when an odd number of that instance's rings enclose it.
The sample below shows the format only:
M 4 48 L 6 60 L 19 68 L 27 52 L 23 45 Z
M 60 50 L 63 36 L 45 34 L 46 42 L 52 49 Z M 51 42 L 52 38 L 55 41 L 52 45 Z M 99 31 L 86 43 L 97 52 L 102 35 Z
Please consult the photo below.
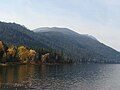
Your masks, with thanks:
M 120 90 L 119 64 L 0 67 L 3 90 Z

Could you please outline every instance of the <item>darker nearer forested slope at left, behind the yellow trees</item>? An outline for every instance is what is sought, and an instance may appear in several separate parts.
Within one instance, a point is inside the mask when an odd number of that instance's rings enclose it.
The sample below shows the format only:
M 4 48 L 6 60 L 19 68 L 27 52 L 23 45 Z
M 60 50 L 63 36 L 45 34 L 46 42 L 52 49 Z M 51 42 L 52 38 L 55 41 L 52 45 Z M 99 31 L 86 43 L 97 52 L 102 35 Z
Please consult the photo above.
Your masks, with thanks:
M 0 22 L 0 40 L 7 44 L 26 45 L 28 47 L 45 46 L 38 42 L 37 35 L 15 23 Z

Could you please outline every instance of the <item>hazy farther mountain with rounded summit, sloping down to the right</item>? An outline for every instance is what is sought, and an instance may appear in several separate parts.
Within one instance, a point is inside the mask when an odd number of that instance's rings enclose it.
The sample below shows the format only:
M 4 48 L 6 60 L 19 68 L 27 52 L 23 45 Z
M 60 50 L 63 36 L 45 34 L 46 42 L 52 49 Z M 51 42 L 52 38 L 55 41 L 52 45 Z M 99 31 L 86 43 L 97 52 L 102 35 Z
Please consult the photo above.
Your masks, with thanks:
M 56 47 L 61 47 L 66 51 L 70 50 L 78 55 L 79 59 L 86 57 L 88 54 L 92 57 L 93 54 L 97 54 L 97 58 L 102 56 L 112 61 L 119 60 L 120 57 L 119 52 L 100 43 L 93 36 L 78 34 L 66 28 L 39 28 L 35 32 L 48 38 Z M 73 55 L 73 53 L 71 54 Z

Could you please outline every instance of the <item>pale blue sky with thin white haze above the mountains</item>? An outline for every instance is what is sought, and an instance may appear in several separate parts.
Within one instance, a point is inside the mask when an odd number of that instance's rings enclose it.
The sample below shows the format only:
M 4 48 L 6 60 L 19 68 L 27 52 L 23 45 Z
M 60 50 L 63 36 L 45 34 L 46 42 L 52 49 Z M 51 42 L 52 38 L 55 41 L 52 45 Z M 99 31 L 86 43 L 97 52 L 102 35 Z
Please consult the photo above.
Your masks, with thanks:
M 0 0 L 0 21 L 69 28 L 120 51 L 120 0 Z

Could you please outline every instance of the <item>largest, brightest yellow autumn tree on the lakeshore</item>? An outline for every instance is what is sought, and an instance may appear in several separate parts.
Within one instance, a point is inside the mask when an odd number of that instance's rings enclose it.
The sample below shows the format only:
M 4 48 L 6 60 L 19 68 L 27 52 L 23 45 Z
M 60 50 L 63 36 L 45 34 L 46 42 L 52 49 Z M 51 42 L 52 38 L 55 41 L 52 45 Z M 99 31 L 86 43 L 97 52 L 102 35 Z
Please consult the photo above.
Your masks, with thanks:
M 29 50 L 25 46 L 18 47 L 18 56 L 20 61 L 27 62 L 29 56 Z

